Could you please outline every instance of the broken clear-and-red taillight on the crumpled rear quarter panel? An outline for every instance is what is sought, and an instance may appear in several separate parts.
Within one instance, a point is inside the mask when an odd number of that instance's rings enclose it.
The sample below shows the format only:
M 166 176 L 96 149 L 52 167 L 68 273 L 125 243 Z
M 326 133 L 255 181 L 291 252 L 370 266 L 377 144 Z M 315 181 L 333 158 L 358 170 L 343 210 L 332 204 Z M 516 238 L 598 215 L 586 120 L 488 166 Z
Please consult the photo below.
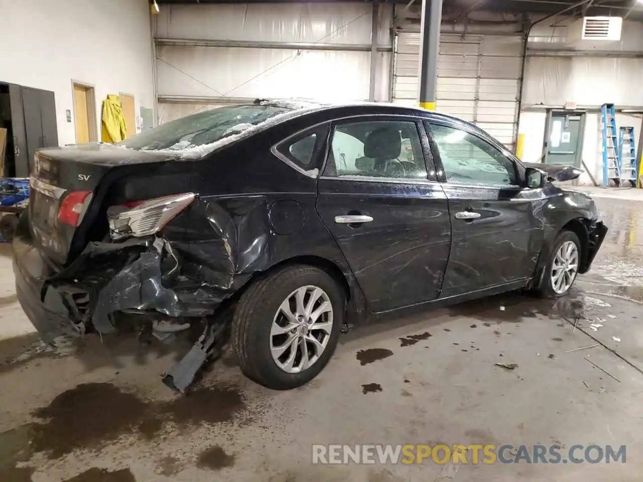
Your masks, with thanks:
M 153 235 L 189 206 L 194 198 L 195 194 L 188 192 L 111 206 L 107 210 L 109 235 L 113 240 Z

